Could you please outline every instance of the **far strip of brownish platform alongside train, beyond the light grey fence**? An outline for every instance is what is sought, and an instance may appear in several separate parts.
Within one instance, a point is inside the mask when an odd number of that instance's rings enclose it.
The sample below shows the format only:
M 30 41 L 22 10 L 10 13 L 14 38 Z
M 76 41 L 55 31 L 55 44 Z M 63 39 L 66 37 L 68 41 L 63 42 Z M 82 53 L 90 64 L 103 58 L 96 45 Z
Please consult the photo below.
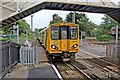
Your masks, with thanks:
M 48 58 L 45 52 L 45 49 L 43 47 L 37 47 L 37 57 L 38 57 L 38 61 L 39 63 L 43 63 L 43 62 L 48 62 Z

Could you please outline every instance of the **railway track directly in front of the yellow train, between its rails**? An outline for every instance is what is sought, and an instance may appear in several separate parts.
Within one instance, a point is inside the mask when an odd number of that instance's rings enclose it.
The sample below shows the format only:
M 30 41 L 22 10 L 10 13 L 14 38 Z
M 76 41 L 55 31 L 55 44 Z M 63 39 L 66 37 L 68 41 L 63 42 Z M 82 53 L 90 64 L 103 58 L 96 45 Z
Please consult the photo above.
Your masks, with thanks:
M 58 71 L 62 75 L 64 80 L 67 79 L 79 79 L 79 80 L 89 80 L 89 77 L 83 74 L 81 70 L 71 62 L 68 63 L 54 63 Z

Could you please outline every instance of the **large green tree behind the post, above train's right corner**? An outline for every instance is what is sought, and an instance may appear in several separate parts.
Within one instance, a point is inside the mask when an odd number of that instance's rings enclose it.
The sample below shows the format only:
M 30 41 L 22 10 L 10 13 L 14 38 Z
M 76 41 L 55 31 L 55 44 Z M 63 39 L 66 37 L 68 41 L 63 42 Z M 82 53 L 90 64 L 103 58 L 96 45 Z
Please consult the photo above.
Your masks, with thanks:
M 73 22 L 73 14 L 70 12 L 66 16 L 66 22 Z M 88 36 L 91 36 L 91 30 L 97 27 L 84 13 L 75 13 L 75 23 L 79 25 L 80 31 L 85 31 Z

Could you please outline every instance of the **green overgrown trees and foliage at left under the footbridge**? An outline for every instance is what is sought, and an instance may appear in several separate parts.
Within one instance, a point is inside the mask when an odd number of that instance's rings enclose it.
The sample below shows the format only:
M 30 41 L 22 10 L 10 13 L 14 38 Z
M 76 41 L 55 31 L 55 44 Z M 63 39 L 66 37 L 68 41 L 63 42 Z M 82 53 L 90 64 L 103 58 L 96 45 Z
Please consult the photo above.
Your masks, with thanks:
M 25 34 L 26 30 L 27 30 L 27 37 L 28 37 L 27 39 L 29 41 L 33 40 L 34 34 L 32 33 L 32 31 L 30 29 L 30 25 L 24 19 L 21 19 L 21 20 L 15 22 L 14 24 L 18 24 L 18 27 L 19 27 L 19 41 L 20 41 L 21 45 L 23 45 L 24 41 L 26 40 L 26 34 Z M 10 35 L 10 29 L 11 29 L 11 27 L 4 27 L 0 34 Z M 8 38 L 1 38 L 0 40 L 5 41 L 5 40 L 8 40 Z M 17 42 L 17 39 L 12 38 L 11 41 L 12 42 Z

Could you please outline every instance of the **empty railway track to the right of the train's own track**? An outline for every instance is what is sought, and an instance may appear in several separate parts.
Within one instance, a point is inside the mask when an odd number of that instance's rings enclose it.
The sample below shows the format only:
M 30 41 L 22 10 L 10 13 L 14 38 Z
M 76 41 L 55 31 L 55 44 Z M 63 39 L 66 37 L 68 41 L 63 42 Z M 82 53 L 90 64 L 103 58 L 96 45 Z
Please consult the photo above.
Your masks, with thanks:
M 86 54 L 86 53 L 85 53 Z M 106 58 L 81 58 L 79 63 L 83 63 L 87 68 L 98 68 L 109 79 L 118 79 L 118 65 Z M 89 67 L 88 67 L 89 66 Z M 100 72 L 99 72 L 100 73 Z M 105 77 L 104 76 L 104 77 Z

